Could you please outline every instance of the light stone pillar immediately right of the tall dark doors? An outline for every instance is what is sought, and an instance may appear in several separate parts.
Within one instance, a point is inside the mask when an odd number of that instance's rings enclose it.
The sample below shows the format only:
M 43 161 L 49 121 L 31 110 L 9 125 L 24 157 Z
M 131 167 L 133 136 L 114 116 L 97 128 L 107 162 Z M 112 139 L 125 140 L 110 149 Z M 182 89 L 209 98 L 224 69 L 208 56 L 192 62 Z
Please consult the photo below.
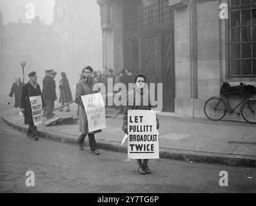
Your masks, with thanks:
M 175 113 L 193 116 L 197 98 L 197 23 L 195 0 L 170 0 L 174 9 Z

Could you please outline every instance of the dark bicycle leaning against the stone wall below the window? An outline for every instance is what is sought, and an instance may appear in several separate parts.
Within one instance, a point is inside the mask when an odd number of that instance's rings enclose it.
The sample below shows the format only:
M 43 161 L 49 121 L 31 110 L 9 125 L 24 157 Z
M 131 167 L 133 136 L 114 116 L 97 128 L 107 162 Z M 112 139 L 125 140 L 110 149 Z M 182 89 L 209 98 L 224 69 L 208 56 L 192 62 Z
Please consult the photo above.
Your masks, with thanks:
M 250 124 L 256 124 L 255 98 L 244 98 L 232 109 L 226 95 L 210 97 L 204 102 L 204 114 L 212 121 L 219 121 L 225 117 L 226 113 L 230 115 L 237 113 L 237 115 L 240 115 L 239 112 L 235 111 L 239 106 L 241 106 L 240 113 L 242 114 L 242 118 Z

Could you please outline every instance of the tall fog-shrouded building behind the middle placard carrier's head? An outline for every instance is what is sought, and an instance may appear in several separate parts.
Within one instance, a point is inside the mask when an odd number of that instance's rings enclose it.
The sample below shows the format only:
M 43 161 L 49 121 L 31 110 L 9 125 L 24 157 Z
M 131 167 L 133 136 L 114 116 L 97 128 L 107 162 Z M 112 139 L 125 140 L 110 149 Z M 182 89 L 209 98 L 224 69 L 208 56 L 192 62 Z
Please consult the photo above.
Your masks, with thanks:
M 56 0 L 52 23 L 55 42 L 65 68 L 82 70 L 88 64 L 102 67 L 100 22 L 94 1 Z

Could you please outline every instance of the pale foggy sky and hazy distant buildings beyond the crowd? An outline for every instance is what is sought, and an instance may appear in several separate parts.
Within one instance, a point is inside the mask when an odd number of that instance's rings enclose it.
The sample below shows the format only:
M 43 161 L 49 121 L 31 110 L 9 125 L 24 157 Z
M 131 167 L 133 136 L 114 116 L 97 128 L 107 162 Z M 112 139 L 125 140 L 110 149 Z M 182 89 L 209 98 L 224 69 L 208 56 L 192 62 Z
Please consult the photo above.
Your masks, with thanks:
M 35 8 L 27 19 L 26 5 Z M 0 0 L 0 92 L 10 93 L 16 77 L 36 71 L 43 89 L 45 70 L 54 69 L 59 98 L 61 72 L 66 72 L 72 95 L 84 66 L 102 70 L 102 33 L 96 0 Z M 14 101 L 14 99 L 13 99 Z M 59 99 L 55 102 L 59 102 Z

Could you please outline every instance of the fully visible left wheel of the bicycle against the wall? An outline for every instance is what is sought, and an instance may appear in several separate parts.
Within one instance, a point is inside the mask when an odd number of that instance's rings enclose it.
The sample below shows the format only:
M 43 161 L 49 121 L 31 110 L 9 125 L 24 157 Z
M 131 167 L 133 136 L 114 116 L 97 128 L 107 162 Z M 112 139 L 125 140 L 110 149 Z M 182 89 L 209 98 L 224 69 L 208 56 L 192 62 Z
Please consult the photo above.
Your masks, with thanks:
M 210 98 L 204 104 L 204 114 L 210 120 L 219 121 L 227 112 L 226 104 L 221 98 Z

